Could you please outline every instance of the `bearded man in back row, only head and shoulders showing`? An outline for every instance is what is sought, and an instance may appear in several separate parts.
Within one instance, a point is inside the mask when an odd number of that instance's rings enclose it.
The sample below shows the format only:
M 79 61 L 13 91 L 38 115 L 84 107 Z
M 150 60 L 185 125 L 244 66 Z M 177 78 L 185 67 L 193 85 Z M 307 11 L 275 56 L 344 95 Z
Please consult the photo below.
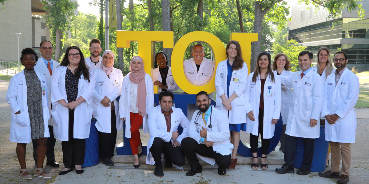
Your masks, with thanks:
M 85 62 L 92 71 L 100 68 L 101 60 L 103 60 L 103 58 L 100 56 L 101 49 L 101 42 L 99 39 L 94 38 L 90 41 L 89 50 L 91 52 L 91 56 L 86 57 Z

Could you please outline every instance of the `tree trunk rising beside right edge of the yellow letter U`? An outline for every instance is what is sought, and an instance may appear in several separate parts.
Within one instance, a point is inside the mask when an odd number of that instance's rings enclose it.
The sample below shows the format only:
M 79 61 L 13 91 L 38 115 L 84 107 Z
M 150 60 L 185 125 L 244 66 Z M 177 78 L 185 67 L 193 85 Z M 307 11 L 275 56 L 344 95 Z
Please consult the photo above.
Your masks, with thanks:
M 258 59 L 261 47 L 261 31 L 263 24 L 263 10 L 259 1 L 255 1 L 255 20 L 254 20 L 254 33 L 259 33 L 258 41 L 252 42 L 251 49 L 251 67 L 250 72 L 254 72 L 256 68 L 256 60 Z

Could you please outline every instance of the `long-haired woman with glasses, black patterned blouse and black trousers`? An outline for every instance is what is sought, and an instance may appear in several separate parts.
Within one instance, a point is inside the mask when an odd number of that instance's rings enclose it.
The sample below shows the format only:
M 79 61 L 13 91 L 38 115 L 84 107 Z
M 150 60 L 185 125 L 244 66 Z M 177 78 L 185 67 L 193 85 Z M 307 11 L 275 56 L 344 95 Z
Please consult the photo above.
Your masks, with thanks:
M 79 47 L 66 49 L 62 63 L 51 77 L 51 103 L 54 136 L 62 141 L 64 169 L 82 174 L 86 138 L 90 135 L 92 98 L 95 92 L 93 71 L 85 65 Z

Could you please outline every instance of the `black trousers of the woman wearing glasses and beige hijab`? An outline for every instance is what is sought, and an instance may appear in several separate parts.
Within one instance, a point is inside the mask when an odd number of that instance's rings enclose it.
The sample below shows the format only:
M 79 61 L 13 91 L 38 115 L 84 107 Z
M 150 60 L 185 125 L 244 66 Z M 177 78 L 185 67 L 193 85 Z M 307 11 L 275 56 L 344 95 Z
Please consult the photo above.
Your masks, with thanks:
M 110 133 L 100 132 L 99 151 L 100 159 L 112 158 L 114 156 L 114 147 L 117 141 L 117 123 L 115 120 L 115 110 L 110 111 Z

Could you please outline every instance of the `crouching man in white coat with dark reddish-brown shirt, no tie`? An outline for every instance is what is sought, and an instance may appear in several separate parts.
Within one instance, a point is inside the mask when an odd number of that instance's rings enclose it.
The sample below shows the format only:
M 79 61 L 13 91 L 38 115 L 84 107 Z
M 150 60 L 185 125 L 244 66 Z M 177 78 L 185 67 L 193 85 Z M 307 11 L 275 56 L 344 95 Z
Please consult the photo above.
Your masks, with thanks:
M 159 104 L 149 111 L 148 127 L 150 139 L 147 144 L 146 164 L 155 163 L 154 175 L 164 176 L 162 155 L 165 167 L 172 168 L 172 163 L 182 167 L 186 160 L 181 148 L 182 139 L 188 136 L 190 121 L 183 114 L 182 109 L 172 107 L 174 95 L 170 91 L 159 93 Z M 183 128 L 178 135 L 178 125 Z

